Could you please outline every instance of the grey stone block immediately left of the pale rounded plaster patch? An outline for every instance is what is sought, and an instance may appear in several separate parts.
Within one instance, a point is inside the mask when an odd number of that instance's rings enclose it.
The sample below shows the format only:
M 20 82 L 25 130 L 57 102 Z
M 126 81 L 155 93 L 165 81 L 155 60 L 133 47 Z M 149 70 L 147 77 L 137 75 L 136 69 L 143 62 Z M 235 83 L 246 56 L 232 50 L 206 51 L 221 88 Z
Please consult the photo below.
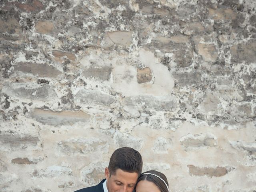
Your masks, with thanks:
M 95 78 L 96 80 L 108 81 L 110 80 L 112 67 L 98 67 L 84 69 L 82 75 L 87 78 Z

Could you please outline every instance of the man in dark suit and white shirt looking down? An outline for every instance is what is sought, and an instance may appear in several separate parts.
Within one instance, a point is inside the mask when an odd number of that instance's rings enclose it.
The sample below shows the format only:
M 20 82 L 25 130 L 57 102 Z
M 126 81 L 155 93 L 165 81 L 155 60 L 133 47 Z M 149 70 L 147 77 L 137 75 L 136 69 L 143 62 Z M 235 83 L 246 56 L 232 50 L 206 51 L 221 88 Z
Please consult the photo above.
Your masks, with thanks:
M 119 148 L 114 151 L 105 168 L 106 179 L 96 186 L 76 192 L 132 192 L 142 172 L 142 164 L 138 151 L 130 147 Z

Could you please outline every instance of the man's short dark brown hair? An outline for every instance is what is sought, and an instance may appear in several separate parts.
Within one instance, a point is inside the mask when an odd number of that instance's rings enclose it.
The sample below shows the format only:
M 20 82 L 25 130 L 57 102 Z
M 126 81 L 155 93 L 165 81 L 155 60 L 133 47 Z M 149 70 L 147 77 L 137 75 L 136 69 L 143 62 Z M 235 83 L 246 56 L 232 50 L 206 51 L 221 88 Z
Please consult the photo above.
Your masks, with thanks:
M 116 174 L 117 169 L 121 169 L 129 173 L 142 172 L 142 157 L 138 151 L 130 147 L 122 147 L 114 151 L 110 157 L 108 170 L 111 174 Z

